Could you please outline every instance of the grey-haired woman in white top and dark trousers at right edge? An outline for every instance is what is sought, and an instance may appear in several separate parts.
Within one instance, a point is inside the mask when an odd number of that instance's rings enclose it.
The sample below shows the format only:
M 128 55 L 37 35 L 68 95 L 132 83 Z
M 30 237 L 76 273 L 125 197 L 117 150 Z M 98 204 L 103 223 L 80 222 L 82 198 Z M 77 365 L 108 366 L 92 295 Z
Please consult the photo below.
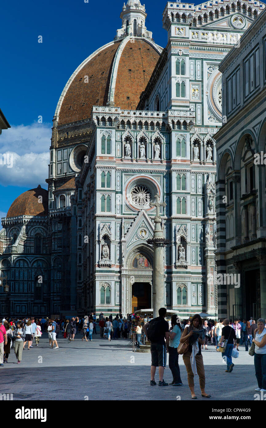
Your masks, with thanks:
M 254 366 L 257 377 L 258 388 L 255 391 L 266 391 L 266 329 L 265 320 L 257 320 L 258 328 L 254 331 L 256 334 L 252 342 L 255 344 Z

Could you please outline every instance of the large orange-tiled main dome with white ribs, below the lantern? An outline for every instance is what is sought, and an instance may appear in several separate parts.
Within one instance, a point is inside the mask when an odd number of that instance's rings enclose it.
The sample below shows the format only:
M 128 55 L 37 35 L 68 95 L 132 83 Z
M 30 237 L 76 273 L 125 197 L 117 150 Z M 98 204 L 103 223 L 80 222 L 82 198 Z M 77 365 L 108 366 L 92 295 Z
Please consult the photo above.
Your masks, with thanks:
M 93 105 L 105 106 L 111 85 L 115 106 L 135 109 L 161 51 L 148 39 L 129 37 L 95 51 L 68 80 L 56 108 L 58 125 L 89 118 Z

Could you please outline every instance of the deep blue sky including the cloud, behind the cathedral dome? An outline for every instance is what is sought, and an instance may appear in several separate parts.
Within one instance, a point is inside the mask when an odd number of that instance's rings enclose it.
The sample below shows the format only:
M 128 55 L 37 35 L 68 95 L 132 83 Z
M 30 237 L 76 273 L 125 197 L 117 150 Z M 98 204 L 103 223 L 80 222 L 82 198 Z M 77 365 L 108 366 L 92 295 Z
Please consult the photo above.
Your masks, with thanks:
M 127 0 L 125 0 L 127 2 Z M 0 153 L 13 152 L 14 165 L 0 165 L 0 217 L 22 192 L 47 188 L 52 119 L 73 71 L 92 52 L 112 41 L 121 27 L 124 1 L 26 0 L 1 3 L 0 108 L 12 128 L 0 135 Z M 165 47 L 162 14 L 166 0 L 142 0 L 146 27 Z M 43 42 L 38 43 L 38 36 Z M 42 116 L 43 123 L 38 123 Z

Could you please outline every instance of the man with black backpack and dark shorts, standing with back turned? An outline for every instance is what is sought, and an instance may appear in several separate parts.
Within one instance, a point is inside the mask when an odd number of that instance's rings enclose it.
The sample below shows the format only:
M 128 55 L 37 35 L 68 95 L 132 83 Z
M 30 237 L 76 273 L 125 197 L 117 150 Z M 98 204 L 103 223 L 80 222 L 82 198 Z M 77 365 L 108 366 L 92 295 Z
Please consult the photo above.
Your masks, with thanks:
M 166 352 L 169 347 L 169 326 L 165 320 L 166 308 L 159 309 L 159 317 L 152 319 L 143 326 L 146 337 L 151 342 L 151 386 L 156 385 L 154 380 L 156 367 L 159 366 L 159 385 L 167 386 L 163 380 L 166 367 Z

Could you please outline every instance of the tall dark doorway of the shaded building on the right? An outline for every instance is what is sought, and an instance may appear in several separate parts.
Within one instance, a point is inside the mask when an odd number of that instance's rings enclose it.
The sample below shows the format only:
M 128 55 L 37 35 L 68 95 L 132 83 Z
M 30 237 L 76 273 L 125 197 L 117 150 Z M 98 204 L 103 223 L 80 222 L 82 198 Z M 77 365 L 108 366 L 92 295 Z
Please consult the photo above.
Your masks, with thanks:
M 260 318 L 260 269 L 245 272 L 245 313 L 250 320 Z

